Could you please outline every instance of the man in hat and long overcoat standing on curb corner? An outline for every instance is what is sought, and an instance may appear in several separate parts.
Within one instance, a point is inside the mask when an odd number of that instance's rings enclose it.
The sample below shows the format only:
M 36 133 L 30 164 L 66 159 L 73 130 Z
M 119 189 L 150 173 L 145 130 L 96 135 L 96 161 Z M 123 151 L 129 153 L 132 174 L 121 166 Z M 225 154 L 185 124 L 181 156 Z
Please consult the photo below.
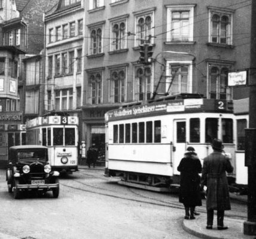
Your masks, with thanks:
M 212 229 L 214 210 L 217 210 L 218 230 L 228 229 L 224 226 L 224 211 L 230 210 L 230 197 L 228 192 L 227 173 L 232 173 L 233 167 L 230 158 L 223 154 L 223 143 L 220 139 L 212 140 L 214 152 L 203 160 L 201 185 L 206 189 L 206 229 Z

